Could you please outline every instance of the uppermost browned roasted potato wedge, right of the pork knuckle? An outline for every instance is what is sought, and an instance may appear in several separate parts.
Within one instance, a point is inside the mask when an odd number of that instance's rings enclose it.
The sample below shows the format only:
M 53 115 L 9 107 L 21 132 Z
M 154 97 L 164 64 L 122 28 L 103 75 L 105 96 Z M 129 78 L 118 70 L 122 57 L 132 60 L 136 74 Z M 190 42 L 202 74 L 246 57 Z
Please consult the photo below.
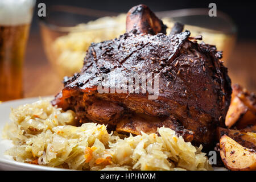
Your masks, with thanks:
M 254 93 L 249 93 L 240 85 L 232 86 L 232 100 L 226 114 L 225 125 L 230 129 L 244 129 L 256 124 L 256 102 Z

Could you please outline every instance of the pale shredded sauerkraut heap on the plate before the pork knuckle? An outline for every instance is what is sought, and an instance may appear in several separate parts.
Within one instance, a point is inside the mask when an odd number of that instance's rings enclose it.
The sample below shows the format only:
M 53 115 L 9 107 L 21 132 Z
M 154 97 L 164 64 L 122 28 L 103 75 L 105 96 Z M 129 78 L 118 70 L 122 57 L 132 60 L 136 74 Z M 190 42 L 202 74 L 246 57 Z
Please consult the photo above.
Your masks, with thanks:
M 49 100 L 12 109 L 3 137 L 18 162 L 79 170 L 210 170 L 202 147 L 194 147 L 161 127 L 159 135 L 108 133 L 105 125 L 76 126 L 75 113 Z

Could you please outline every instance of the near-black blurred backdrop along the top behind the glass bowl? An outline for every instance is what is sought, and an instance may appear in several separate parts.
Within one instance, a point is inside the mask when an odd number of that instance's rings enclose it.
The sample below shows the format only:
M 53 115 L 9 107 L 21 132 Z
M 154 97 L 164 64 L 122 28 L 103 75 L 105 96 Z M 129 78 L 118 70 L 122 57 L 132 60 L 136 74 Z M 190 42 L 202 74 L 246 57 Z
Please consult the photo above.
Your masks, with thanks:
M 238 27 L 238 40 L 254 39 L 256 40 L 256 1 L 189 1 L 189 0 L 37 0 L 37 3 L 46 3 L 50 5 L 72 5 L 77 7 L 86 7 L 102 11 L 113 11 L 117 13 L 126 13 L 131 7 L 139 4 L 145 4 L 153 11 L 168 11 L 190 8 L 208 8 L 209 3 L 216 3 L 217 10 L 228 14 Z M 33 30 L 36 30 L 36 19 L 33 21 Z

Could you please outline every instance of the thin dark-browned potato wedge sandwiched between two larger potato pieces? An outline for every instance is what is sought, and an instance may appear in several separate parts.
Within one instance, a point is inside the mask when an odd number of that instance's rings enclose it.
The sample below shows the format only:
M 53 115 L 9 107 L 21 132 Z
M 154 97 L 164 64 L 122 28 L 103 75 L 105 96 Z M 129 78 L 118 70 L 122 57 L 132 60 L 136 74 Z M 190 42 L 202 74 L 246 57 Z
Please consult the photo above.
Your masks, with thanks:
M 236 140 L 237 143 L 240 143 L 243 147 L 251 148 L 256 150 L 256 133 L 243 132 L 239 130 L 230 130 L 218 127 L 217 137 L 220 139 L 223 135 Z

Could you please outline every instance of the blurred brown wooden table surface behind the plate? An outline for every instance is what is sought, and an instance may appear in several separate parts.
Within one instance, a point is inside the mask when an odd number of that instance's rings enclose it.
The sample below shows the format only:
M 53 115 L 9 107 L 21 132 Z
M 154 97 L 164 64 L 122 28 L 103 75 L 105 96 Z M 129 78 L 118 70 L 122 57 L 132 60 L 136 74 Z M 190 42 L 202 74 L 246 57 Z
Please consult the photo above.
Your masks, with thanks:
M 256 42 L 237 42 L 226 64 L 233 83 L 256 93 Z M 23 73 L 24 97 L 55 95 L 63 87 L 43 50 L 40 34 L 30 34 Z

